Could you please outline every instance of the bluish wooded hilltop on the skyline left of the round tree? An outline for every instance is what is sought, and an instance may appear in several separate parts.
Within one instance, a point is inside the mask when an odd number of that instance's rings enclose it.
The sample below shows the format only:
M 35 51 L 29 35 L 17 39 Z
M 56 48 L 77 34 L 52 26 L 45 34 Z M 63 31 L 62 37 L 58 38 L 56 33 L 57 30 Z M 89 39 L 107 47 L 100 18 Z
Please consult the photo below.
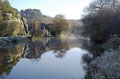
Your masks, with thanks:
M 42 23 L 51 23 L 53 18 L 43 15 L 39 9 L 26 9 L 21 10 L 20 14 L 26 18 L 28 21 L 38 20 Z

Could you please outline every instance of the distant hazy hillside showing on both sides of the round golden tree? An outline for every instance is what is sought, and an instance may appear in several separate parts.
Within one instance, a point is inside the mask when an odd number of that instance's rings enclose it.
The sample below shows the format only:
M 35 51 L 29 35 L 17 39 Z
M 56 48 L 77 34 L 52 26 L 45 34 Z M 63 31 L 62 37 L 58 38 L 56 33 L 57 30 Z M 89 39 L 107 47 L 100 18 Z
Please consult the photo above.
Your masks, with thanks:
M 31 22 L 34 20 L 40 21 L 40 23 L 51 24 L 54 19 L 52 17 L 43 15 L 39 9 L 21 10 L 20 14 L 29 21 L 28 25 L 30 28 L 31 28 Z M 81 33 L 81 26 L 82 26 L 80 20 L 68 19 L 68 21 L 72 23 L 72 33 L 79 35 Z

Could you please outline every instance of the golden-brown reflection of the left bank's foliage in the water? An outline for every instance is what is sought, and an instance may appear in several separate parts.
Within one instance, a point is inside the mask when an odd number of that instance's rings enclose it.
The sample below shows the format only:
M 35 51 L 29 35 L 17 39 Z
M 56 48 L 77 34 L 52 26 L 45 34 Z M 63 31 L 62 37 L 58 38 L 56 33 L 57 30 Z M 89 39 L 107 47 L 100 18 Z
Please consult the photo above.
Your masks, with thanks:
M 10 74 L 12 68 L 21 59 L 23 52 L 23 45 L 0 48 L 0 78 L 4 79 Z

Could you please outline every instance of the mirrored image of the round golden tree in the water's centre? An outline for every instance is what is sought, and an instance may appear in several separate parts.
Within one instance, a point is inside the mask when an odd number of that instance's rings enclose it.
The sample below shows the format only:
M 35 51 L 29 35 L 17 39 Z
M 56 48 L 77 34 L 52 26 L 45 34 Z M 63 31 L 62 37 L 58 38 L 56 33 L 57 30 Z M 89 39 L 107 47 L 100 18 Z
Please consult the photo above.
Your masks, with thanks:
M 61 58 L 70 49 L 70 44 L 66 40 L 53 38 L 49 41 L 48 47 L 50 50 L 54 50 L 56 57 Z

